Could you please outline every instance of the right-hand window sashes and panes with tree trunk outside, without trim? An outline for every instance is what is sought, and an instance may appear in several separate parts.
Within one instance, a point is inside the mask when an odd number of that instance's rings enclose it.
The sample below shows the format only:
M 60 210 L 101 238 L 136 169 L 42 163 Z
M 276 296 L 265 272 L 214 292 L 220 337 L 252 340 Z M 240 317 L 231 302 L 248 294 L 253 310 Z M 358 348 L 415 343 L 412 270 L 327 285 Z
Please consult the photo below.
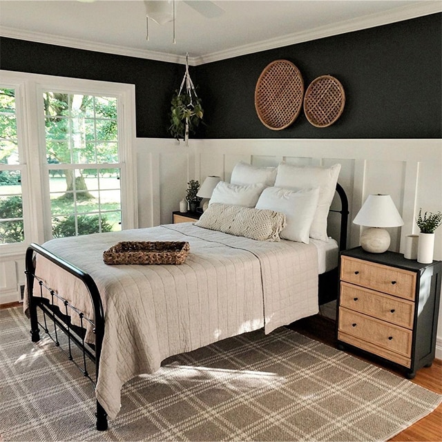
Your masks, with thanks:
M 52 236 L 121 230 L 117 99 L 43 97 Z

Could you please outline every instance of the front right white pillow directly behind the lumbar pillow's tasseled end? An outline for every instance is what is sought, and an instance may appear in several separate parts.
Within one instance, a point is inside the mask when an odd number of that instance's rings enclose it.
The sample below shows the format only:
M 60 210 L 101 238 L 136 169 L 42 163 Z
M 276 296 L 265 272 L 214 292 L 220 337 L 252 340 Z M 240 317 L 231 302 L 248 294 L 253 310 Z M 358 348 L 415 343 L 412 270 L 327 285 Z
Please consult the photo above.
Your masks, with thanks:
M 309 244 L 309 231 L 318 206 L 318 197 L 318 187 L 298 191 L 267 187 L 262 191 L 256 209 L 284 213 L 287 225 L 282 229 L 280 237 Z

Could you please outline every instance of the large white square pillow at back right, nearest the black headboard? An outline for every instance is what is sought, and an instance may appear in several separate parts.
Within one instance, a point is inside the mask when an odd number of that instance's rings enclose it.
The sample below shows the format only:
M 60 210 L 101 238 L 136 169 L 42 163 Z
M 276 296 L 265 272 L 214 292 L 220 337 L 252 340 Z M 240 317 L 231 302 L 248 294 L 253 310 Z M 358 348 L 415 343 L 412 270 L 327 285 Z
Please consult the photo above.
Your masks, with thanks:
M 336 190 L 340 164 L 329 168 L 314 166 L 294 166 L 280 163 L 276 174 L 275 186 L 285 189 L 305 189 L 319 187 L 319 200 L 314 220 L 310 227 L 310 238 L 328 241 L 327 216 Z

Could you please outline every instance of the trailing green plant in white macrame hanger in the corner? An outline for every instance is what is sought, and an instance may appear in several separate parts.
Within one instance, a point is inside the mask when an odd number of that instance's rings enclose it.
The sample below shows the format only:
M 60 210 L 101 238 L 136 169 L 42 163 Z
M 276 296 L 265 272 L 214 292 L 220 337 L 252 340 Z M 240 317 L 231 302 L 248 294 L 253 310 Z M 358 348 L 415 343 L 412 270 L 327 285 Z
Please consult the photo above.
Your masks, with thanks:
M 185 84 L 185 87 L 184 87 Z M 169 132 L 186 144 L 189 142 L 189 133 L 195 133 L 202 121 L 201 99 L 196 95 L 195 87 L 189 74 L 189 54 L 186 55 L 186 71 L 181 82 L 180 90 L 175 89 L 171 102 L 171 126 Z

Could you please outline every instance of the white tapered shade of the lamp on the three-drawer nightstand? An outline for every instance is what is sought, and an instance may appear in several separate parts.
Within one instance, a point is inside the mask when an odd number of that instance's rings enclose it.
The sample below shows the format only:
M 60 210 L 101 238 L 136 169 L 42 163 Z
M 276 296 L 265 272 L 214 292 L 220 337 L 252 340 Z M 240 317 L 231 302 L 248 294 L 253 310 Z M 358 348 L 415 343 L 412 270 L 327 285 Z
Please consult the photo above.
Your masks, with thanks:
M 368 195 L 353 222 L 365 227 L 403 226 L 403 219 L 390 195 Z

